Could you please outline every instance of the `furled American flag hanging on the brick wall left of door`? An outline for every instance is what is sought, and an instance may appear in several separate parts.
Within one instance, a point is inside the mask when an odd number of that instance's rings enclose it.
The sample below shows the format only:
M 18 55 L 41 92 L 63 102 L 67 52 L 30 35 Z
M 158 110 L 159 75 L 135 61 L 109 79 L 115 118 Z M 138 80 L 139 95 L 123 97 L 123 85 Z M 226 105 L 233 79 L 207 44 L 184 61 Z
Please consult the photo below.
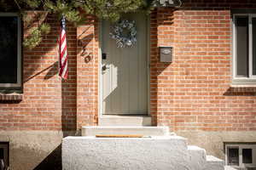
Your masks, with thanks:
M 61 33 L 59 37 L 59 76 L 67 79 L 67 39 L 66 39 L 66 21 L 61 18 Z

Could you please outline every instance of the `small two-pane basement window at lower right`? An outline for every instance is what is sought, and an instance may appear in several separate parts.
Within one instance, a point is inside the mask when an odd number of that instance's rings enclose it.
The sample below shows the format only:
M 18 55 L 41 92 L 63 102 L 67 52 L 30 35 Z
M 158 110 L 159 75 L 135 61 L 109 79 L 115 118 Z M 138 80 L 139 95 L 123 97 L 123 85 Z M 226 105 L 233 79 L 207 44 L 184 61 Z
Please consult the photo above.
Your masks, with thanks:
M 225 144 L 226 164 L 241 170 L 256 170 L 256 144 Z

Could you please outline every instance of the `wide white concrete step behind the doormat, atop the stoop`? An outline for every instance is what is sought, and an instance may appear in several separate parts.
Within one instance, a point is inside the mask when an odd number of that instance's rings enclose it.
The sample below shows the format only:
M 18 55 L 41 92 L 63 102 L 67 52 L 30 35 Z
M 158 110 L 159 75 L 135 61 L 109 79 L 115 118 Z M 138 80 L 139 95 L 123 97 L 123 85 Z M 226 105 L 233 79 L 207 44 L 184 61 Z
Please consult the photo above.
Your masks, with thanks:
M 82 136 L 109 135 L 143 135 L 169 136 L 169 127 L 82 127 Z

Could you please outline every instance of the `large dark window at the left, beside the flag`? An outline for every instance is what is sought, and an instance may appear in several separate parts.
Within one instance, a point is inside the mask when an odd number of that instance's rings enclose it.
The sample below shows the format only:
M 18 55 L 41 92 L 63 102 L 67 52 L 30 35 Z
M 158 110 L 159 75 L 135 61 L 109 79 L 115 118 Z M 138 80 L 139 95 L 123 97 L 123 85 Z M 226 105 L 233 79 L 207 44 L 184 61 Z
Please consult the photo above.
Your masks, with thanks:
M 20 87 L 20 17 L 0 13 L 0 23 L 0 88 Z

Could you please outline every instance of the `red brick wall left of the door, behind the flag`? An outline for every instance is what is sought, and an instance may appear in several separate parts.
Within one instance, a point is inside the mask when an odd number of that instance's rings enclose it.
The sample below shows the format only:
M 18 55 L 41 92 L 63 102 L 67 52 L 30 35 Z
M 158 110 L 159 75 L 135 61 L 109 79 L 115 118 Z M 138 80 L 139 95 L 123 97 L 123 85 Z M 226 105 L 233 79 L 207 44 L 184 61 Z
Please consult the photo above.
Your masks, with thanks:
M 97 95 L 97 77 L 91 76 L 97 74 L 93 20 L 78 29 L 67 23 L 68 78 L 61 81 L 57 76 L 60 23 L 54 15 L 40 18 L 40 13 L 29 12 L 29 16 L 49 23 L 51 31 L 37 48 L 23 49 L 23 94 L 1 94 L 0 130 L 76 130 L 80 123 L 93 124 Z M 36 26 L 31 24 L 24 23 L 24 37 Z M 83 44 L 77 37 L 84 38 Z M 88 62 L 79 53 L 81 45 L 91 53 Z

